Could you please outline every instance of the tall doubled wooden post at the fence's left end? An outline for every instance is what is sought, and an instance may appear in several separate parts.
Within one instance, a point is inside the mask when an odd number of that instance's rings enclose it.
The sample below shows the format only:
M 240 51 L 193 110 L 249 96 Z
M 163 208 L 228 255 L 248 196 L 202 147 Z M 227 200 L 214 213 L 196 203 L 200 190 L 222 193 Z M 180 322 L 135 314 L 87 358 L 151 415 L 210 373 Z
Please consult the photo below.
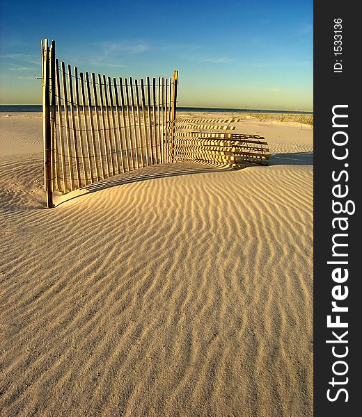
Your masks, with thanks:
M 42 74 L 42 132 L 44 138 L 44 181 L 47 208 L 53 207 L 52 193 L 52 131 L 50 127 L 50 66 L 48 40 L 44 42 Z

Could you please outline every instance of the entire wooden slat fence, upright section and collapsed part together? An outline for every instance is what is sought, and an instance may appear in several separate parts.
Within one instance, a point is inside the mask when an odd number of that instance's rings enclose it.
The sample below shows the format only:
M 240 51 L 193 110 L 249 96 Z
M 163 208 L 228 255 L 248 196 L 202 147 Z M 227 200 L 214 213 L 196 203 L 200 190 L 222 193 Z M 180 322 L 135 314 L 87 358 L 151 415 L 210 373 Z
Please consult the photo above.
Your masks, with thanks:
M 41 42 L 41 54 L 47 207 L 56 190 L 69 193 L 149 165 L 267 160 L 264 138 L 229 133 L 235 119 L 176 120 L 178 71 L 111 79 L 59 62 L 54 40 Z

